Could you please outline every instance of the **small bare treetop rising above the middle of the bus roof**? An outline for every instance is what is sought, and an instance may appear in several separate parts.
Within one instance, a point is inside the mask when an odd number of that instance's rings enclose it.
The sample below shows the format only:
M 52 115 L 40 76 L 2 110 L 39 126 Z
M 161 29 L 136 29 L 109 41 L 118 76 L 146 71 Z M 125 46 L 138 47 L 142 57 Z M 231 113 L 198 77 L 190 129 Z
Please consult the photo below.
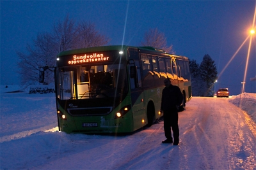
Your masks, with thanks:
M 160 48 L 167 53 L 175 53 L 173 46 L 166 45 L 166 37 L 163 32 L 159 32 L 157 28 L 150 29 L 145 33 L 144 40 L 141 42 L 143 46 L 153 46 L 154 48 Z

